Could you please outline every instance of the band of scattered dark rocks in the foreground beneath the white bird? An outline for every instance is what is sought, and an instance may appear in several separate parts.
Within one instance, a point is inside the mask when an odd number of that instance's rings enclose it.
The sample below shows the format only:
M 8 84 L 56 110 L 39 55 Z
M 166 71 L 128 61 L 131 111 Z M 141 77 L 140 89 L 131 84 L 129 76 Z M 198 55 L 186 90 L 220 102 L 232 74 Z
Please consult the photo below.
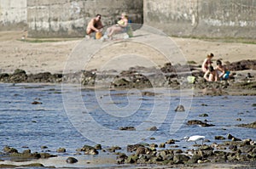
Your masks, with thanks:
M 255 128 L 255 127 L 254 127 Z M 193 149 L 179 149 L 175 146 L 179 140 L 170 139 L 162 144 L 131 144 L 126 148 L 119 146 L 102 147 L 101 144 L 95 146 L 84 145 L 82 148 L 76 149 L 75 155 L 68 155 L 65 148 L 56 149 L 59 155 L 66 155 L 66 161 L 63 163 L 77 163 L 79 155 L 101 155 L 112 154 L 116 157 L 115 163 L 111 165 L 156 165 L 162 167 L 195 167 L 212 164 L 240 164 L 242 167 L 253 168 L 256 166 L 256 142 L 250 138 L 241 140 L 228 134 L 224 136 L 216 136 L 215 140 L 223 139 L 221 144 L 209 144 L 209 140 L 204 140 L 207 144 L 194 144 Z M 43 148 L 42 148 L 43 149 Z M 47 149 L 47 147 L 44 147 Z M 4 147 L 0 152 L 0 162 L 6 161 L 31 161 L 31 164 L 20 165 L 24 167 L 44 166 L 40 163 L 33 163 L 38 159 L 49 159 L 56 157 L 46 152 L 31 152 L 26 149 L 18 152 L 17 149 L 9 146 Z M 110 165 L 110 166 L 111 166 Z M 14 168 L 15 165 L 1 164 L 2 168 Z M 55 168 L 55 166 L 51 166 Z M 153 167 L 154 168 L 154 167 Z M 239 168 L 239 167 L 237 167 Z

